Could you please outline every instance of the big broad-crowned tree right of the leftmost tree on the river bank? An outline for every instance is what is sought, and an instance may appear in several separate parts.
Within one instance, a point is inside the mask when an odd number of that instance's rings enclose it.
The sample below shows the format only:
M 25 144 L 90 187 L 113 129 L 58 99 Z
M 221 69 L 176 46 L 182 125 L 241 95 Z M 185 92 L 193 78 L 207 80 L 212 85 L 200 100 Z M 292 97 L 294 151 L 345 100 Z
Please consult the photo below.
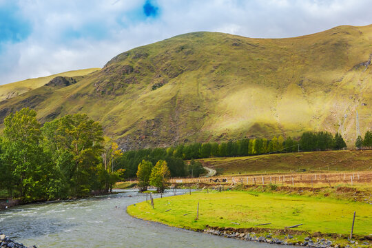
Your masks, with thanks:
M 55 147 L 56 161 L 63 162 L 60 167 L 65 172 L 69 195 L 85 196 L 92 190 L 101 190 L 105 186 L 105 180 L 99 180 L 103 154 L 101 125 L 86 114 L 74 114 L 59 118 L 45 129 L 48 129 L 44 131 L 45 139 L 52 142 L 47 146 Z

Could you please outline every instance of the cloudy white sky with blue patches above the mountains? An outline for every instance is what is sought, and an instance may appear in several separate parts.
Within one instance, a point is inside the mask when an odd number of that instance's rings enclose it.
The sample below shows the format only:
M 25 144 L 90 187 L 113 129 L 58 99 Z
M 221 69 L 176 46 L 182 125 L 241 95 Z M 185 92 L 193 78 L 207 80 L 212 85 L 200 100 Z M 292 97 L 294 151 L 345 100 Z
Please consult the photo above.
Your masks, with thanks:
M 372 24 L 371 10 L 371 0 L 0 0 L 0 84 L 102 68 L 187 32 L 296 37 Z

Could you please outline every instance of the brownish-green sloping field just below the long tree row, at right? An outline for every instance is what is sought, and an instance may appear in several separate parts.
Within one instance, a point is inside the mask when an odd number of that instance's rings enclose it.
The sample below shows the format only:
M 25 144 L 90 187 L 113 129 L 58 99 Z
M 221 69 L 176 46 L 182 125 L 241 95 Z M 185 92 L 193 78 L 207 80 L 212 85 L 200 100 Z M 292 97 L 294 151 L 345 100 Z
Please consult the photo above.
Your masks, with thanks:
M 292 172 L 372 172 L 372 150 L 294 152 L 236 158 L 206 158 L 206 167 L 218 174 L 265 174 Z

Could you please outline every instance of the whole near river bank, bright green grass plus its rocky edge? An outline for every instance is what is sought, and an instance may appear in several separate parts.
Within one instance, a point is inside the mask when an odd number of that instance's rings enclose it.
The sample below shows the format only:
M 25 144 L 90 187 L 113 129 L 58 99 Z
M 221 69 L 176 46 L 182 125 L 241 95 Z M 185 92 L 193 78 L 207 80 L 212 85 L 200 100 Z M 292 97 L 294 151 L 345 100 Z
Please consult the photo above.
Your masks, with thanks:
M 357 218 L 353 239 L 348 240 L 353 211 Z M 156 199 L 154 209 L 149 203 L 138 203 L 127 207 L 127 212 L 136 218 L 227 238 L 311 247 L 372 245 L 372 206 L 346 200 L 209 191 Z M 289 228 L 293 225 L 299 226 Z

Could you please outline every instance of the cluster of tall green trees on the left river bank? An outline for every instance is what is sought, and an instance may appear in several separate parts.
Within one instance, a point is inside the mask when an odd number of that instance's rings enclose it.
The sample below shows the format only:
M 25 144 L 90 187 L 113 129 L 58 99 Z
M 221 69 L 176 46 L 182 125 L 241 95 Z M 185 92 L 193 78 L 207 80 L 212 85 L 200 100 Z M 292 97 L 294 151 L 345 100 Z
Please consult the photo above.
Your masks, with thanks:
M 30 202 L 87 196 L 107 192 L 122 178 L 124 170 L 111 167 L 121 152 L 116 143 L 104 140 L 99 123 L 74 114 L 41 127 L 36 116 L 24 108 L 4 120 L 0 189 L 10 198 Z

